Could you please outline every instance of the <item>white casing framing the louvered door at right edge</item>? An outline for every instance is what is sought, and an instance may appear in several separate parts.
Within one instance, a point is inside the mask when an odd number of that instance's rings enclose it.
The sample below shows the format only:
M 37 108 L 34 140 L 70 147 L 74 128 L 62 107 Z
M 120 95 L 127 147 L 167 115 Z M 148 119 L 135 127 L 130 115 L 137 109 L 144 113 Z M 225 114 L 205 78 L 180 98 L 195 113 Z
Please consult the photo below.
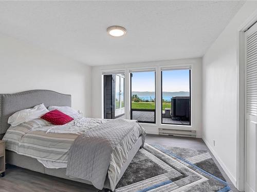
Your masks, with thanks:
M 245 179 L 245 34 L 257 20 L 255 11 L 237 30 L 237 142 L 236 188 L 244 191 Z M 243 114 L 244 113 L 244 114 Z

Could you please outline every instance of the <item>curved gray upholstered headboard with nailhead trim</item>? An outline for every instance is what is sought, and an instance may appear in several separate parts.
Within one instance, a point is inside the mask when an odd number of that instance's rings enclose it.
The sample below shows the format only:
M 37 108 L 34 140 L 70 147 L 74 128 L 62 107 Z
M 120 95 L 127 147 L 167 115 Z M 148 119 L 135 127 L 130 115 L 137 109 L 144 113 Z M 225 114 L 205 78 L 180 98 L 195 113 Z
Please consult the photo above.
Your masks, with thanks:
M 71 106 L 71 95 L 49 90 L 31 90 L 13 94 L 0 94 L 0 139 L 10 126 L 8 118 L 17 111 L 33 108 L 44 103 L 46 108 L 51 105 Z

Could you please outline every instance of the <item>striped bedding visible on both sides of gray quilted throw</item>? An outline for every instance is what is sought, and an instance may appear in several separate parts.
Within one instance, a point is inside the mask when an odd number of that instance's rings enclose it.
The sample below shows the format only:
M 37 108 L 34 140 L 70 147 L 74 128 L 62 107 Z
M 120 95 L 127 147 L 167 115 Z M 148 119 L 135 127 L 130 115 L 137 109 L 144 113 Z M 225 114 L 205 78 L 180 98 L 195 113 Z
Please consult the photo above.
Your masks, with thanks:
M 70 147 L 74 141 L 80 135 L 87 133 L 87 130 L 94 129 L 95 126 L 99 128 L 97 125 L 107 121 L 109 120 L 78 118 L 65 125 L 52 125 L 43 119 L 34 119 L 15 127 L 10 126 L 3 140 L 6 141 L 7 150 L 38 159 L 42 164 L 44 164 L 43 161 L 67 164 Z M 138 134 L 134 132 L 127 134 L 126 138 L 113 150 L 107 172 L 113 189 L 117 184 L 117 176 L 123 161 L 126 160 L 126 155 L 121 153 L 126 147 L 123 149 L 121 146 L 131 145 L 132 147 L 139 135 L 145 137 L 145 132 L 139 124 L 137 132 Z

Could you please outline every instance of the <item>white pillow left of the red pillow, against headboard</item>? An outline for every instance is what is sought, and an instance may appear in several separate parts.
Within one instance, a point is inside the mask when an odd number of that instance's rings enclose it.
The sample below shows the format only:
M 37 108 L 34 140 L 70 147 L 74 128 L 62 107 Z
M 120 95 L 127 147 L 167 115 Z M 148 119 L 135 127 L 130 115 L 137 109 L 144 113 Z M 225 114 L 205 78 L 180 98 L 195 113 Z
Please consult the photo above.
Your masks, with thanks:
M 44 103 L 34 106 L 31 109 L 25 109 L 14 113 L 9 117 L 8 123 L 12 126 L 17 126 L 21 123 L 38 119 L 49 111 L 46 109 Z

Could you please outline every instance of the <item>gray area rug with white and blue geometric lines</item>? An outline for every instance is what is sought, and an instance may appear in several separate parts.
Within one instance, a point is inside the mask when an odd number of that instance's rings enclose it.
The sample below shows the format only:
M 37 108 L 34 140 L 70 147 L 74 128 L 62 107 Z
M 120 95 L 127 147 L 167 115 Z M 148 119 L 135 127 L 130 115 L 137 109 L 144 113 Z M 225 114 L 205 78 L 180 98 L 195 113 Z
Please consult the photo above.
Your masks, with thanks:
M 208 151 L 145 144 L 115 192 L 231 191 Z

